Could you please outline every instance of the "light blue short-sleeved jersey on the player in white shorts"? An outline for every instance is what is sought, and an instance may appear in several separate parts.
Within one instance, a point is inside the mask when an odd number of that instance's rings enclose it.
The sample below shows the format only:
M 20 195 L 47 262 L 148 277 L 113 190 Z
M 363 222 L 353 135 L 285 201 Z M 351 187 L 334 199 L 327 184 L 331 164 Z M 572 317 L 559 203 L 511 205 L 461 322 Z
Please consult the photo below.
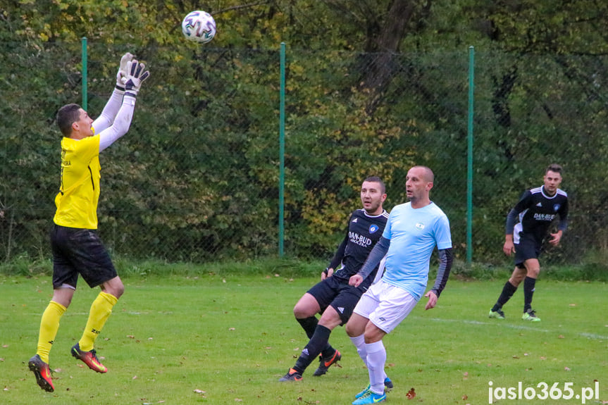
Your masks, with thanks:
M 449 220 L 431 202 L 411 208 L 411 202 L 392 208 L 383 237 L 390 239 L 383 280 L 409 292 L 418 301 L 428 281 L 430 255 L 452 247 Z

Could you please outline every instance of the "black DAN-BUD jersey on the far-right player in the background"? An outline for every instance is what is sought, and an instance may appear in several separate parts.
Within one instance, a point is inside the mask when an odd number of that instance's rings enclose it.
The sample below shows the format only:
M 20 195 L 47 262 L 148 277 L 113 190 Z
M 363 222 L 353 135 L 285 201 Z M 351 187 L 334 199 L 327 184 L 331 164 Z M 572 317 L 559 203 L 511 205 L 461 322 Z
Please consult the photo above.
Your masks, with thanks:
M 543 187 L 529 189 L 522 194 L 514 211 L 519 213 L 519 223 L 515 225 L 513 232 L 514 243 L 519 244 L 522 237 L 531 237 L 540 244 L 556 216 L 559 215 L 561 221 L 566 221 L 568 194 L 557 189 L 557 192 L 549 197 Z

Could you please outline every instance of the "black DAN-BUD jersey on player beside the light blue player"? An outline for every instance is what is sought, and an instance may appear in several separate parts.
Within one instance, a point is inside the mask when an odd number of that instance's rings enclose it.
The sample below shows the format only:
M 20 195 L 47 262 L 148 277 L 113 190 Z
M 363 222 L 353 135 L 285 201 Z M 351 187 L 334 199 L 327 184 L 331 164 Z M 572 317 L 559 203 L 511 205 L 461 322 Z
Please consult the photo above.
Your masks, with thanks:
M 369 252 L 380 240 L 387 219 L 386 210 L 383 210 L 378 216 L 370 216 L 364 209 L 358 209 L 351 214 L 346 237 L 338 247 L 329 266 L 336 269 L 333 277 L 348 282 L 349 278 L 361 269 Z M 342 266 L 337 268 L 340 263 Z M 366 278 L 367 285 L 371 284 L 371 280 L 376 276 L 376 270 L 378 268 Z

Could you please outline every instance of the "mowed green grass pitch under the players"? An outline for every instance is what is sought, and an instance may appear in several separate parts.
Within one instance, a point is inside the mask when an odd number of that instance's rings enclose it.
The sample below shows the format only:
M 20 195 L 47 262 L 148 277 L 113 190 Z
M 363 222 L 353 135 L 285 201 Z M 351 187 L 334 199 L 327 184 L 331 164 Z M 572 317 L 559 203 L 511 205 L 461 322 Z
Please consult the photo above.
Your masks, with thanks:
M 39 389 L 27 369 L 39 320 L 51 298 L 50 277 L 0 275 L 0 404 L 350 404 L 368 383 L 343 328 L 331 337 L 341 368 L 280 383 L 307 339 L 292 308 L 316 282 L 280 276 L 130 277 L 97 340 L 109 372 L 97 374 L 69 350 L 84 328 L 98 289 L 80 280 L 53 350 L 55 392 Z M 385 337 L 390 404 L 488 404 L 489 387 L 537 387 L 574 394 L 599 385 L 608 401 L 608 285 L 540 280 L 534 307 L 540 323 L 520 319 L 521 289 L 490 320 L 504 280 L 450 280 L 438 307 L 423 299 Z M 416 397 L 407 399 L 414 388 Z M 540 391 L 540 389 L 538 389 Z M 569 400 L 495 400 L 495 404 L 581 404 Z

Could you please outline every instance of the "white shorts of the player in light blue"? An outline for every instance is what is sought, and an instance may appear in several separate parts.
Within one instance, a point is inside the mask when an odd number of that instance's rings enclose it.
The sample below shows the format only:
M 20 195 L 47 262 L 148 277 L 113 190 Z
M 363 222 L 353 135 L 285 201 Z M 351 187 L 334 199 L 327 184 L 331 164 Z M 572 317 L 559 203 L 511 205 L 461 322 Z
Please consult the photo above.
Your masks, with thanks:
M 404 289 L 380 280 L 361 296 L 354 313 L 368 318 L 378 328 L 390 333 L 407 318 L 417 302 Z

